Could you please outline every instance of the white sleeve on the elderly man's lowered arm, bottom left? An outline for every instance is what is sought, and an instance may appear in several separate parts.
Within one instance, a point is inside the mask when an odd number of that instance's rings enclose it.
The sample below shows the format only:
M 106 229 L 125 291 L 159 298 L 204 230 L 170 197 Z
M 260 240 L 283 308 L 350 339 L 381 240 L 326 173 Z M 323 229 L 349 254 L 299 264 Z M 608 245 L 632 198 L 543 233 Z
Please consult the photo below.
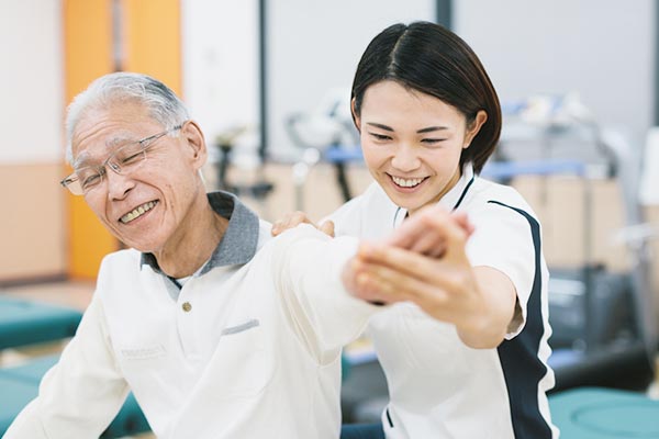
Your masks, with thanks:
M 98 438 L 119 413 L 129 387 L 114 361 L 101 301 L 85 312 L 38 395 L 14 419 L 5 439 Z

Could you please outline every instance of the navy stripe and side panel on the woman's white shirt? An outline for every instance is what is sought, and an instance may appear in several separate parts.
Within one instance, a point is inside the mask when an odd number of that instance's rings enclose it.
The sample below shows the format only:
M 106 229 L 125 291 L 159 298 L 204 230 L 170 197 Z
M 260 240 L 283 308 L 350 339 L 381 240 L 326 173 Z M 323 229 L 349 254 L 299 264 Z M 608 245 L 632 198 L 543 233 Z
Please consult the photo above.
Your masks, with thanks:
M 499 201 L 489 201 L 512 209 L 528 221 L 535 247 L 535 275 L 533 290 L 526 305 L 524 329 L 499 348 L 499 359 L 509 392 L 513 430 L 516 438 L 551 438 L 551 428 L 538 406 L 538 387 L 547 367 L 538 358 L 540 340 L 545 333 L 541 311 L 540 226 L 527 212 Z

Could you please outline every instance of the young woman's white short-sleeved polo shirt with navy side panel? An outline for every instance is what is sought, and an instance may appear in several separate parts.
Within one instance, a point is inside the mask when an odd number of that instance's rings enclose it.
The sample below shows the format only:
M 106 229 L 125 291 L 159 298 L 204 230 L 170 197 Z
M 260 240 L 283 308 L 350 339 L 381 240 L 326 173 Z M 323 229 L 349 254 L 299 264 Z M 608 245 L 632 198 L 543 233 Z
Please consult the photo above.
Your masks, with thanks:
M 367 334 L 389 386 L 387 438 L 556 438 L 546 397 L 554 385 L 547 365 L 548 271 L 536 215 L 514 189 L 476 177 L 471 166 L 439 204 L 468 214 L 476 227 L 467 245 L 471 264 L 511 279 L 522 322 L 496 349 L 472 349 L 454 325 L 414 304 L 373 316 Z M 373 183 L 331 218 L 337 236 L 378 239 L 405 216 Z

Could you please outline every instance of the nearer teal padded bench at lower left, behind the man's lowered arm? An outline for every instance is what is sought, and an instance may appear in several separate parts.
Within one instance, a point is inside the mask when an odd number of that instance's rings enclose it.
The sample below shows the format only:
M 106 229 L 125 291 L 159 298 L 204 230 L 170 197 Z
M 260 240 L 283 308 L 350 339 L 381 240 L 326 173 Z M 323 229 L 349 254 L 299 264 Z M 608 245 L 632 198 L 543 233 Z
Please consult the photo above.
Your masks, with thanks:
M 0 436 L 4 435 L 21 409 L 37 395 L 42 376 L 57 359 L 57 356 L 43 357 L 20 367 L 0 369 Z M 150 427 L 131 393 L 101 438 L 119 438 L 149 430 Z

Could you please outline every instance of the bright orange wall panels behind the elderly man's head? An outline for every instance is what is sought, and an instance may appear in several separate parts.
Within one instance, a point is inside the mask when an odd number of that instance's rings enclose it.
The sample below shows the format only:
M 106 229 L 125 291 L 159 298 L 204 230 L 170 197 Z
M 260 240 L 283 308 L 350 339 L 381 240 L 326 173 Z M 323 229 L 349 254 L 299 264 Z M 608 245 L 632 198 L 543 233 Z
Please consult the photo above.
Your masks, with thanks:
M 64 0 L 66 103 L 93 79 L 115 69 L 152 75 L 176 92 L 181 89 L 178 0 Z M 118 12 L 120 11 L 120 12 Z M 113 35 L 113 13 L 121 34 Z M 66 172 L 63 170 L 63 173 Z M 120 244 L 80 196 L 68 198 L 69 277 L 96 278 L 101 259 Z

